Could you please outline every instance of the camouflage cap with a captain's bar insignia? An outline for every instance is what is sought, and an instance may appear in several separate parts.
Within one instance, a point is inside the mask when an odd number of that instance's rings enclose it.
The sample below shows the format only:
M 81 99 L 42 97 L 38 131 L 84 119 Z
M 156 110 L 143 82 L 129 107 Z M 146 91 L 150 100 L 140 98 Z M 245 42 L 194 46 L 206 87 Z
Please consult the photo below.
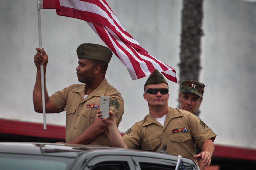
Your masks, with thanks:
M 194 93 L 203 98 L 204 84 L 193 80 L 183 80 L 180 87 L 180 93 Z

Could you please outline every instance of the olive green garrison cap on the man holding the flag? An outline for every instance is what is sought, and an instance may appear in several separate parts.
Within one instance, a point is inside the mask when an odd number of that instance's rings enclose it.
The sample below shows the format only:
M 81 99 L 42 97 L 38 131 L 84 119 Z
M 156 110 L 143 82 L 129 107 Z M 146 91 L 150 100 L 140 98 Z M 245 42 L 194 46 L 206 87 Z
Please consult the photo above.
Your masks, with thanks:
M 81 44 L 76 52 L 79 59 L 100 60 L 106 63 L 109 63 L 112 57 L 112 51 L 99 44 Z

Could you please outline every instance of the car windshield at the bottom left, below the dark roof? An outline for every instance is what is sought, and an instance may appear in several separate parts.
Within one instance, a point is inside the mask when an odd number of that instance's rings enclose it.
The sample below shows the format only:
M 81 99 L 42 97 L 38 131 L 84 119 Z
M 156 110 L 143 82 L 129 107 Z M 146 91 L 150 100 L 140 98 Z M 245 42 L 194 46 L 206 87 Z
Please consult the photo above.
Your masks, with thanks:
M 66 170 L 74 158 L 26 154 L 0 154 L 1 170 Z

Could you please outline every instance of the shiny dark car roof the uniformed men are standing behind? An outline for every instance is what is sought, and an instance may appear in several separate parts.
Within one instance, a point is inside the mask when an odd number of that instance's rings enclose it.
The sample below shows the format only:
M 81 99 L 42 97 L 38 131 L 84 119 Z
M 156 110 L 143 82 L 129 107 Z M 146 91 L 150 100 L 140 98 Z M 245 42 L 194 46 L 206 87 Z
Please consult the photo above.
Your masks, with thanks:
M 0 142 L 0 153 L 5 154 L 29 154 L 57 157 L 76 158 L 86 155 L 89 159 L 103 155 L 138 156 L 157 159 L 177 160 L 177 156 L 169 154 L 139 151 L 133 149 L 122 149 L 97 145 L 79 145 L 64 143 L 31 143 L 31 142 Z M 192 160 L 182 158 L 183 162 L 195 164 Z

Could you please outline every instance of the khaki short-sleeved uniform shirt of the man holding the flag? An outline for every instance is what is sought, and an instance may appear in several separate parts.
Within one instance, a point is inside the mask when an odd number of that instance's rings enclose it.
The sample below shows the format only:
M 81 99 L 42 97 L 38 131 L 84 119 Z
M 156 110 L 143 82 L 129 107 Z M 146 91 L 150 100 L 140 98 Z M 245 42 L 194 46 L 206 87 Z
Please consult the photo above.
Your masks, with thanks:
M 85 99 L 84 94 L 85 84 L 73 84 L 49 97 L 59 112 L 66 111 L 66 142 L 78 137 L 93 124 L 100 106 L 100 96 L 110 96 L 110 110 L 115 114 L 117 125 L 122 120 L 124 100 L 121 94 L 108 84 L 106 78 Z M 108 131 L 91 144 L 109 146 Z

